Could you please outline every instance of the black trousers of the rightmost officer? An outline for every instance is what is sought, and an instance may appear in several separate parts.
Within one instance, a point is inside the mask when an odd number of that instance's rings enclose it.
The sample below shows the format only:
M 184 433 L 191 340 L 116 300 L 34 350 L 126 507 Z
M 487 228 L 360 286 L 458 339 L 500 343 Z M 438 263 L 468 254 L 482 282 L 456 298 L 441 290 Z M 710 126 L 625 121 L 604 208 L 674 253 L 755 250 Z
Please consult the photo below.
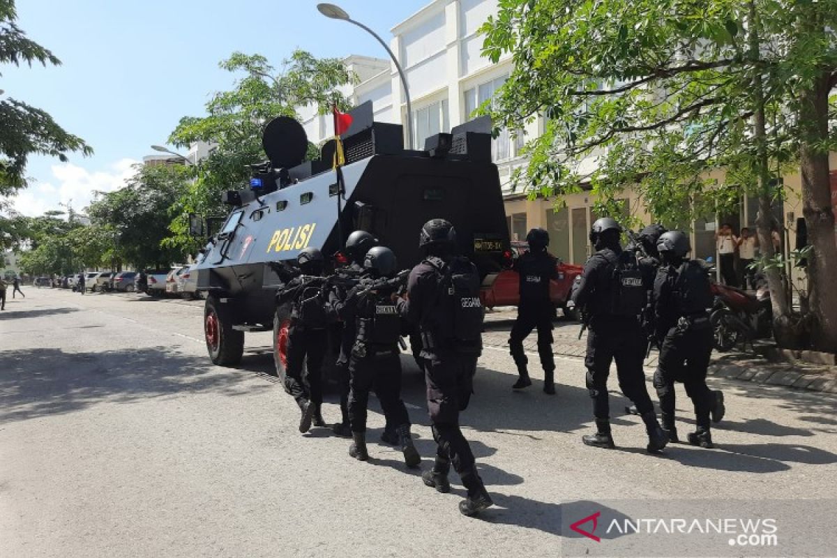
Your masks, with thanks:
M 654 387 L 660 398 L 663 427 L 675 425 L 675 381 L 682 381 L 686 395 L 695 406 L 698 429 L 709 429 L 712 394 L 706 387 L 706 368 L 712 352 L 712 330 L 674 329 L 665 336 L 660 347 L 660 363 L 654 374 Z

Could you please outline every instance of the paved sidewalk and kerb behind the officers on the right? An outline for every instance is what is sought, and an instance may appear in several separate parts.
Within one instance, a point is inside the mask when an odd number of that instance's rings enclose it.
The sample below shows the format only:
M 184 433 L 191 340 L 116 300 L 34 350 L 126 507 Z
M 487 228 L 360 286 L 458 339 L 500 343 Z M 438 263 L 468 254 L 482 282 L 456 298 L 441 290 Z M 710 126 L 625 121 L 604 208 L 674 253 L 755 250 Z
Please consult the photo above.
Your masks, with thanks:
M 508 347 L 509 331 L 516 315 L 515 308 L 496 308 L 486 313 L 485 334 L 483 335 L 485 345 L 498 348 Z M 584 358 L 587 349 L 587 334 L 584 333 L 581 339 L 578 339 L 580 331 L 581 324 L 578 322 L 557 320 L 555 330 L 552 331 L 555 340 L 552 344 L 552 351 L 556 355 Z M 523 342 L 523 346 L 526 351 L 531 351 L 537 356 L 535 334 L 529 335 Z M 651 351 L 649 358 L 644 362 L 645 368 L 655 369 L 658 356 L 657 351 Z M 752 352 L 713 352 L 709 374 L 758 384 L 837 393 L 837 366 L 816 365 L 802 361 L 796 361 L 793 364 L 770 362 Z

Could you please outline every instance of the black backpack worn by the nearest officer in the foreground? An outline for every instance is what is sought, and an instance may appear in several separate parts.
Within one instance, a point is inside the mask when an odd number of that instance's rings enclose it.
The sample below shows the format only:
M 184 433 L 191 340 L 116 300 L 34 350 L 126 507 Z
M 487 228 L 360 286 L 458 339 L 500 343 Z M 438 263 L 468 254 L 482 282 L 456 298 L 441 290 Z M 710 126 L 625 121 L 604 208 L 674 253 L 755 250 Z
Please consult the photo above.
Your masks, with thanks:
M 480 301 L 480 274 L 476 266 L 462 257 L 447 264 L 440 258 L 424 261 L 436 269 L 439 278 L 433 311 L 434 345 L 480 352 L 485 309 Z

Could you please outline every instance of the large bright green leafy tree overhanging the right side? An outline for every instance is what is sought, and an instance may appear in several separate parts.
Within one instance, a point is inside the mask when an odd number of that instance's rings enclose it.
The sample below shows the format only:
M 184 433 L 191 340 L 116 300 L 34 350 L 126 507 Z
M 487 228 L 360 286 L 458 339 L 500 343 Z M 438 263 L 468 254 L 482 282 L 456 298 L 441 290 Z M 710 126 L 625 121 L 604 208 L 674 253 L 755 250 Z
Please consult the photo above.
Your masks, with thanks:
M 837 346 L 834 215 L 829 202 L 828 94 L 837 73 L 837 3 L 779 0 L 501 0 L 483 27 L 485 54 L 515 68 L 490 110 L 520 129 L 547 116 L 518 179 L 562 196 L 582 185 L 599 210 L 632 187 L 650 213 L 684 226 L 759 197 L 759 243 L 772 259 L 777 177 L 803 174 L 814 256 L 809 299 L 815 346 Z M 724 169 L 723 184 L 709 173 Z M 790 305 L 768 269 L 778 339 L 791 343 Z

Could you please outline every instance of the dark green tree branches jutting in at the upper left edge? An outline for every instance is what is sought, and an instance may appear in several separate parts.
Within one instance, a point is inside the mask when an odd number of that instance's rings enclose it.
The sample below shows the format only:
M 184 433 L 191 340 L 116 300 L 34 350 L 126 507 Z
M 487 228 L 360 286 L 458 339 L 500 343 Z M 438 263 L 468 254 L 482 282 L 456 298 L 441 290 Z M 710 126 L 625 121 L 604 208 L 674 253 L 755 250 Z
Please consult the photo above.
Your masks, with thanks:
M 26 37 L 15 24 L 17 18 L 13 0 L 0 0 L 0 64 L 61 64 L 49 50 Z M 26 186 L 28 156 L 40 154 L 67 161 L 69 151 L 81 151 L 85 156 L 93 153 L 44 110 L 20 100 L 0 100 L 0 196 Z

